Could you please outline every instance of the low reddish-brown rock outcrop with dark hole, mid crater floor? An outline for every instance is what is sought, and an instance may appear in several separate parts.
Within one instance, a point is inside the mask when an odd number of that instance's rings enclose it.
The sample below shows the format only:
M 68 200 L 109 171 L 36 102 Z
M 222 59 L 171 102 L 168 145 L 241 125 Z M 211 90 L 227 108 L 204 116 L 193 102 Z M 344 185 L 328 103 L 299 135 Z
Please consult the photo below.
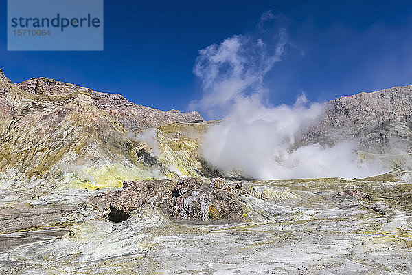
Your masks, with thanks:
M 222 184 L 222 188 L 224 186 Z M 246 207 L 236 198 L 235 187 L 208 188 L 201 179 L 190 177 L 125 181 L 123 188 L 98 195 L 89 204 L 114 222 L 125 221 L 130 212 L 146 203 L 159 207 L 172 219 L 242 221 Z

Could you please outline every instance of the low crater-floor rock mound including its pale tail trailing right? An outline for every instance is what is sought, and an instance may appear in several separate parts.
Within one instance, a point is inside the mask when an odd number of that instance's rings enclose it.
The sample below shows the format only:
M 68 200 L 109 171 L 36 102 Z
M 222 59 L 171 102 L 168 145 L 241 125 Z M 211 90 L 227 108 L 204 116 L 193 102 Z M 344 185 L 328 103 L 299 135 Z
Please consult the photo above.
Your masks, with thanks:
M 125 181 L 123 188 L 108 190 L 86 205 L 101 217 L 114 222 L 126 221 L 130 214 L 151 205 L 174 220 L 225 221 L 271 219 L 274 214 L 301 213 L 301 210 L 275 203 L 291 201 L 292 192 L 258 183 L 174 177 L 157 181 Z M 266 202 L 267 201 L 267 202 Z

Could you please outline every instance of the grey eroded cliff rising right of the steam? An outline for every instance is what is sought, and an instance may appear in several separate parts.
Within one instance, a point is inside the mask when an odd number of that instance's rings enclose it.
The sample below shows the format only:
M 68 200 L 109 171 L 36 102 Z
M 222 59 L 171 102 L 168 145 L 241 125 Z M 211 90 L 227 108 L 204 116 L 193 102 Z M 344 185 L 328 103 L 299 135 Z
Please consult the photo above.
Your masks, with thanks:
M 357 142 L 369 153 L 404 153 L 412 148 L 412 86 L 393 87 L 326 103 L 319 120 L 299 136 L 295 148 Z

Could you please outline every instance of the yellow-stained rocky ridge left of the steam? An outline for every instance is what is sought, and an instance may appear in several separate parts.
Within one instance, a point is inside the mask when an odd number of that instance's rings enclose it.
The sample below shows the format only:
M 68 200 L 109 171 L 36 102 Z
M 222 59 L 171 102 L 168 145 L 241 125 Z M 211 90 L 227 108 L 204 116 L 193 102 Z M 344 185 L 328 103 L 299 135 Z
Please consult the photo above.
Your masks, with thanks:
M 207 176 L 197 151 L 213 123 L 47 78 L 12 84 L 1 71 L 0 181 L 95 189 Z

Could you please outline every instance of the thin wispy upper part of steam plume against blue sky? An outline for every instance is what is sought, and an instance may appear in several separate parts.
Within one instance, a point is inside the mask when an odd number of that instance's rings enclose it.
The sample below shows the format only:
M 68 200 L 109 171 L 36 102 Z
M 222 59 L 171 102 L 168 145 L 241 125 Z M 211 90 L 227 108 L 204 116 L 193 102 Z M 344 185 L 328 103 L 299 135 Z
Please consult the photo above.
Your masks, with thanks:
M 275 49 L 269 51 L 263 39 L 236 35 L 220 45 L 199 51 L 193 72 L 202 81 L 203 98 L 191 103 L 211 117 L 227 115 L 238 100 L 262 98 L 265 74 L 280 61 L 286 44 L 285 30 L 279 29 Z

